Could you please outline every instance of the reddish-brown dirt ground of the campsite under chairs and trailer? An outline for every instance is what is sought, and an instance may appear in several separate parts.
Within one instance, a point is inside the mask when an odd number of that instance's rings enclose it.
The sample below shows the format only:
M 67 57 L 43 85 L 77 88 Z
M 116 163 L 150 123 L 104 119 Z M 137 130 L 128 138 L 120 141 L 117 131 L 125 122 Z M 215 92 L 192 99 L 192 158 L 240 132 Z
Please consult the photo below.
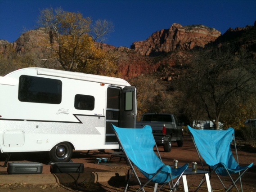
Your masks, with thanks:
M 198 155 L 193 146 L 192 139 L 190 136 L 184 136 L 184 145 L 183 147 L 177 147 L 176 143 L 172 143 L 171 152 L 164 152 L 163 147 L 158 148 L 162 157 L 162 161 L 167 165 L 173 165 L 173 160 L 179 160 L 179 165 L 184 165 L 196 161 L 199 163 Z M 96 158 L 108 158 L 110 159 L 113 151 L 106 150 L 105 152 L 99 151 L 77 151 L 74 152 L 72 156 L 73 162 L 83 163 L 85 168 L 85 173 L 90 172 L 107 172 L 112 171 L 116 173 L 125 173 L 127 175 L 127 170 L 129 166 L 126 165 L 126 161 L 123 158 L 113 157 L 110 163 L 101 162 L 99 164 L 95 163 Z M 12 154 L 9 161 L 33 161 L 43 163 L 43 173 L 42 174 L 51 174 L 49 162 L 46 161 L 47 154 L 37 154 L 37 153 L 15 153 Z M 247 165 L 251 162 L 254 163 L 253 167 L 247 171 L 243 176 L 243 191 L 244 192 L 256 192 L 256 153 L 255 149 L 249 149 L 248 147 L 241 146 L 238 148 L 238 158 L 240 165 Z M 0 157 L 0 165 L 4 165 L 4 157 Z M 198 165 L 198 169 L 201 169 L 201 166 Z M 0 168 L 0 174 L 7 174 L 7 168 Z M 22 177 L 22 175 L 20 175 Z M 2 183 L 0 181 L 0 191 L 1 192 L 122 192 L 126 186 L 126 179 L 124 177 L 112 177 L 108 182 L 100 183 L 91 183 L 88 182 L 90 178 L 83 177 L 83 174 L 55 174 L 58 179 L 58 183 L 52 184 L 27 184 L 21 183 L 17 180 L 17 183 Z M 202 179 L 202 174 L 187 175 L 187 183 L 189 186 L 189 192 L 194 191 L 200 180 Z M 140 179 L 144 181 L 144 178 L 139 174 Z M 67 179 L 68 178 L 68 179 Z M 117 179 L 119 178 L 119 179 Z M 226 185 L 230 184 L 229 178 L 224 177 L 224 183 Z M 146 192 L 153 191 L 153 183 L 145 188 Z M 220 181 L 217 179 L 216 175 L 211 177 L 211 187 L 213 191 L 225 191 L 222 187 Z M 132 179 L 130 183 L 129 192 L 135 192 L 138 189 L 138 183 L 135 179 Z M 161 191 L 167 192 L 167 188 L 163 188 Z M 178 191 L 183 191 L 182 182 Z M 206 184 L 203 184 L 198 192 L 207 191 Z M 232 191 L 236 191 L 235 188 Z

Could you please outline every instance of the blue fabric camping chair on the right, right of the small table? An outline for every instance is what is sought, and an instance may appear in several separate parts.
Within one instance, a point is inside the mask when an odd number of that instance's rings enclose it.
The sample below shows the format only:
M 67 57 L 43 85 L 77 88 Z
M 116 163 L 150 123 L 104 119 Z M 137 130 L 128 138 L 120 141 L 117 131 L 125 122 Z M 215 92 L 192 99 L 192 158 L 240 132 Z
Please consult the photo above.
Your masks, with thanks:
M 210 176 L 212 173 L 216 173 L 226 192 L 230 191 L 234 187 L 239 192 L 236 183 L 240 181 L 241 191 L 243 192 L 241 178 L 246 173 L 246 171 L 250 167 L 252 167 L 253 163 L 243 167 L 238 164 L 238 155 L 234 137 L 234 129 L 229 127 L 229 129 L 227 130 L 199 130 L 193 129 L 189 125 L 188 128 L 193 136 L 193 142 L 197 149 L 201 164 L 202 159 L 204 159 L 207 165 L 209 165 L 209 168 L 212 170 Z M 230 146 L 233 139 L 237 160 L 235 160 Z M 233 174 L 238 174 L 235 180 L 232 178 Z M 224 183 L 220 178 L 220 176 L 226 175 L 229 175 L 232 181 L 232 184 L 229 186 L 229 188 L 225 187 Z M 202 183 L 204 182 L 205 180 L 202 179 L 198 188 L 200 188 Z

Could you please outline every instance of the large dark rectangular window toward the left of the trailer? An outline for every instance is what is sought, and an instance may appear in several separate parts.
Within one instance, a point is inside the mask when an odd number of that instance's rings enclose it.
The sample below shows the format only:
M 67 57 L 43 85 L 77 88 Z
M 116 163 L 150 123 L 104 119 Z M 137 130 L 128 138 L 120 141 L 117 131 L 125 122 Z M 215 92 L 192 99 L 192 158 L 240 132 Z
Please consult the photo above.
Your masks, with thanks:
M 22 102 L 59 104 L 62 99 L 61 80 L 26 76 L 19 77 L 18 99 Z

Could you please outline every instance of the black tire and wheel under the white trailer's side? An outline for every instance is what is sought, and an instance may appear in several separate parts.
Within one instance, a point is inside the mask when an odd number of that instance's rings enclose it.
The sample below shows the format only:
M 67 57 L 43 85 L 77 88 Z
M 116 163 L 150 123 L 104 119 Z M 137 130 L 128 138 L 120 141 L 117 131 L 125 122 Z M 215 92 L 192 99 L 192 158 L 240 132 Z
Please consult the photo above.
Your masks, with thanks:
M 62 142 L 55 145 L 49 152 L 50 160 L 53 162 L 68 162 L 73 154 L 70 143 Z

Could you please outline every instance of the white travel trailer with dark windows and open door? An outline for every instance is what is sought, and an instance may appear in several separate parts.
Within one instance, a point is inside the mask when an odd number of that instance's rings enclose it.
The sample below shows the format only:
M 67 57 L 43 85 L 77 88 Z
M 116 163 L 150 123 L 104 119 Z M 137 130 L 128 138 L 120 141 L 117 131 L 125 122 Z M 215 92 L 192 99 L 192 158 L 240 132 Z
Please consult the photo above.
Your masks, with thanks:
M 0 77 L 1 153 L 117 149 L 110 124 L 135 127 L 136 88 L 126 80 L 45 68 Z

